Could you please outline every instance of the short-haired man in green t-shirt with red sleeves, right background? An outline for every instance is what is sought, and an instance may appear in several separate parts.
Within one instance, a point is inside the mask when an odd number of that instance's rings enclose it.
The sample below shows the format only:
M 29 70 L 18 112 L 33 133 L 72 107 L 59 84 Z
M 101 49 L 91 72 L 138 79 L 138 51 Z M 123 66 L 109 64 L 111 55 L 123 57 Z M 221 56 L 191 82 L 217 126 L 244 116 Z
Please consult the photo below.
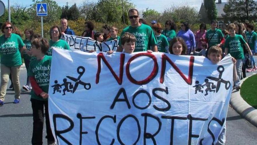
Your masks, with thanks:
M 210 47 L 217 45 L 221 47 L 224 44 L 225 39 L 223 33 L 220 29 L 217 29 L 217 21 L 211 20 L 211 29 L 209 29 L 205 34 L 206 43 L 208 43 L 208 49 L 206 54 L 208 54 L 208 50 Z

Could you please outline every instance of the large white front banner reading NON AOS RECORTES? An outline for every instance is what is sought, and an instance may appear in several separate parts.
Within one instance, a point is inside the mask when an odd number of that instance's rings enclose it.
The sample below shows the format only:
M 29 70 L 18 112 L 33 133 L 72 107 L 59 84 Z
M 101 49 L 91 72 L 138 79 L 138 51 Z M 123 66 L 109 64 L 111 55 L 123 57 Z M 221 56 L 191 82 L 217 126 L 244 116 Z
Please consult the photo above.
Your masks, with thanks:
M 212 64 L 160 52 L 53 49 L 52 132 L 61 145 L 216 144 L 232 70 L 230 56 Z

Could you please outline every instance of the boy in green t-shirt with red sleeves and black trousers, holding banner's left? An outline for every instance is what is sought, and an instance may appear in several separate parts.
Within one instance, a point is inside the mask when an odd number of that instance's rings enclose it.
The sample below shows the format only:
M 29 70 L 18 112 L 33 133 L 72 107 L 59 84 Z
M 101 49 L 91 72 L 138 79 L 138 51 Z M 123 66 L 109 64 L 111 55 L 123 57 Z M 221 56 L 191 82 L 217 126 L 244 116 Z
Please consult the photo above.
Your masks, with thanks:
M 46 116 L 47 144 L 54 144 L 55 139 L 51 132 L 48 114 L 48 87 L 50 81 L 50 69 L 52 57 L 46 55 L 49 44 L 44 38 L 36 38 L 32 41 L 31 53 L 36 57 L 29 64 L 28 76 L 32 86 L 31 105 L 33 112 L 32 144 L 43 142 L 44 108 Z

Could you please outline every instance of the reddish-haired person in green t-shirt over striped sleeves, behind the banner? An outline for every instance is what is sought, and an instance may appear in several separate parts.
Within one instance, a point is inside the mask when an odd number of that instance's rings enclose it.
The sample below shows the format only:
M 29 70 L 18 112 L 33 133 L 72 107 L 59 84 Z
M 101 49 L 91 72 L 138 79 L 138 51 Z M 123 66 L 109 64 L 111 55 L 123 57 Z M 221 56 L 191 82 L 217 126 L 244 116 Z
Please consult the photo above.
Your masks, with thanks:
M 160 23 L 153 24 L 152 25 L 152 29 L 154 30 L 154 34 L 157 37 L 157 41 L 158 41 L 157 49 L 158 49 L 158 52 L 170 53 L 169 52 L 169 42 L 168 42 L 166 36 L 161 34 L 161 31 L 162 31 L 161 24 Z

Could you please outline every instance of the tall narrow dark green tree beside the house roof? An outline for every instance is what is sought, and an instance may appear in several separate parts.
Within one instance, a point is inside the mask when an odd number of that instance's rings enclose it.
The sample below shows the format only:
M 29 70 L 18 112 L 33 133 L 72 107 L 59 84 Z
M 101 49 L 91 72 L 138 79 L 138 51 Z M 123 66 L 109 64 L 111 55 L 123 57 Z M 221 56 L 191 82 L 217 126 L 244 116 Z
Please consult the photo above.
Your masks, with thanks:
M 216 20 L 217 8 L 216 8 L 215 0 L 204 0 L 204 7 L 206 9 L 208 19 Z

